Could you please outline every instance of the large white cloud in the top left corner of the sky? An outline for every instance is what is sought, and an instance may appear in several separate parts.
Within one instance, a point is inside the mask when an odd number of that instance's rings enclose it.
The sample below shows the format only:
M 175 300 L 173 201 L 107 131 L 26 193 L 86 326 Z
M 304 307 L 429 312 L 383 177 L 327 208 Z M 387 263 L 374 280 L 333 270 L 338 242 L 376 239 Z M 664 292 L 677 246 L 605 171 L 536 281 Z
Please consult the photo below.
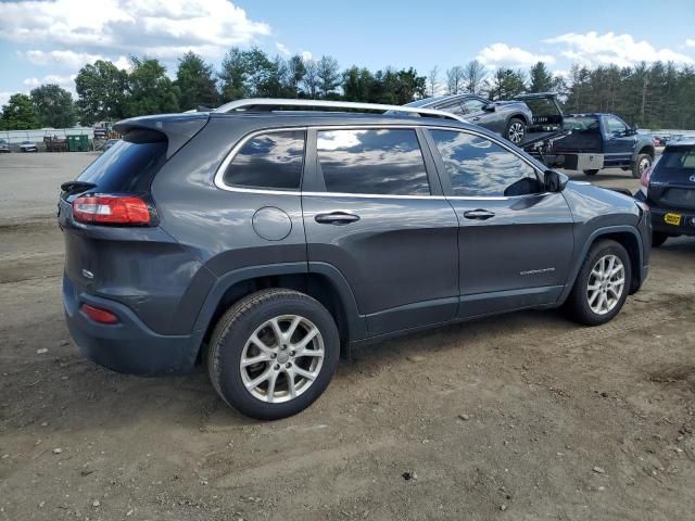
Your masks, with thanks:
M 60 53 L 60 60 L 73 63 L 85 55 L 142 50 L 165 60 L 189 50 L 219 56 L 270 33 L 268 24 L 250 20 L 227 0 L 35 0 L 3 3 L 0 18 L 1 39 L 58 49 L 28 51 L 27 59 Z

